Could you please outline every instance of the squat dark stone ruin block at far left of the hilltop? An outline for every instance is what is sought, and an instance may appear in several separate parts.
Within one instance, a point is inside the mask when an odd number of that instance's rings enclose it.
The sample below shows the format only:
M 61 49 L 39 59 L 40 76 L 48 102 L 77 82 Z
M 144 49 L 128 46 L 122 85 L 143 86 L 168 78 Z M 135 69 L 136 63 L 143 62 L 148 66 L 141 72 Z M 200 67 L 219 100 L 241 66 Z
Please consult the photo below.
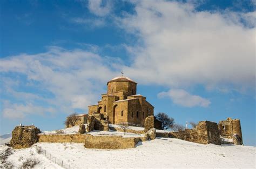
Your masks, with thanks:
M 35 126 L 16 126 L 12 131 L 10 145 L 14 148 L 30 147 L 38 141 L 41 131 Z

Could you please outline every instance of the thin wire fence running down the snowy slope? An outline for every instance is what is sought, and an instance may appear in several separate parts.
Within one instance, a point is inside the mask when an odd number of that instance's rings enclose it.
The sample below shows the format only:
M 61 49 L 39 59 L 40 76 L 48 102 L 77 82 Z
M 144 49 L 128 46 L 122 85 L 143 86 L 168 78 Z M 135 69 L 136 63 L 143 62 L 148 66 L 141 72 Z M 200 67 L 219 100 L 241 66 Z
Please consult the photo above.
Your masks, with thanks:
M 59 166 L 66 168 L 66 169 L 79 169 L 78 166 L 75 165 L 70 165 L 63 161 L 62 159 L 57 158 L 56 156 L 52 156 L 51 153 L 46 151 L 44 148 L 41 146 L 36 146 L 36 151 L 38 154 L 43 154 L 46 158 L 51 160 L 53 163 L 58 164 Z

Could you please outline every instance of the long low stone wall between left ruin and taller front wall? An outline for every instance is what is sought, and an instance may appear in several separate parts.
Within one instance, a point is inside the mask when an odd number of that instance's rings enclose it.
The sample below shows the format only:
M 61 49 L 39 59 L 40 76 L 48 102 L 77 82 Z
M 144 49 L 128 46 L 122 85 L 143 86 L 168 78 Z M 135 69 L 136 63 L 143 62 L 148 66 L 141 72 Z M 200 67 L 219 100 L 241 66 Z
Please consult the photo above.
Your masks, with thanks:
M 84 143 L 86 134 L 38 134 L 39 143 Z

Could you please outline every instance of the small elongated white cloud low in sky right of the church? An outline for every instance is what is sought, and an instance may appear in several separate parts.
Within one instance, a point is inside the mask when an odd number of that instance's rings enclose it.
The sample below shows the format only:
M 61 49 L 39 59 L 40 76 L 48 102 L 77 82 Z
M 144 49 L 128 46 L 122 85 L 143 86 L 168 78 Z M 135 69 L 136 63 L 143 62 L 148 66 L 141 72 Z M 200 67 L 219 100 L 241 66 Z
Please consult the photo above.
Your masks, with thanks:
M 158 93 L 159 98 L 170 97 L 174 104 L 178 104 L 185 107 L 208 107 L 211 104 L 210 100 L 202 98 L 197 95 L 191 95 L 182 89 L 171 89 L 168 92 Z

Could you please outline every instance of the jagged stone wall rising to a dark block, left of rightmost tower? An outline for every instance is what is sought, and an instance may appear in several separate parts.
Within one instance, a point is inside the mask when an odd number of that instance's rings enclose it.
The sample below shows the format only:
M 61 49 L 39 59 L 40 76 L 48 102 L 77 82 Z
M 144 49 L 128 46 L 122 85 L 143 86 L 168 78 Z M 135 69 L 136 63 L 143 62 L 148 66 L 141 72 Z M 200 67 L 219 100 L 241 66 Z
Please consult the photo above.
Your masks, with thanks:
M 211 121 L 199 121 L 196 129 L 185 129 L 184 131 L 170 132 L 169 137 L 200 144 L 221 144 L 218 125 Z

